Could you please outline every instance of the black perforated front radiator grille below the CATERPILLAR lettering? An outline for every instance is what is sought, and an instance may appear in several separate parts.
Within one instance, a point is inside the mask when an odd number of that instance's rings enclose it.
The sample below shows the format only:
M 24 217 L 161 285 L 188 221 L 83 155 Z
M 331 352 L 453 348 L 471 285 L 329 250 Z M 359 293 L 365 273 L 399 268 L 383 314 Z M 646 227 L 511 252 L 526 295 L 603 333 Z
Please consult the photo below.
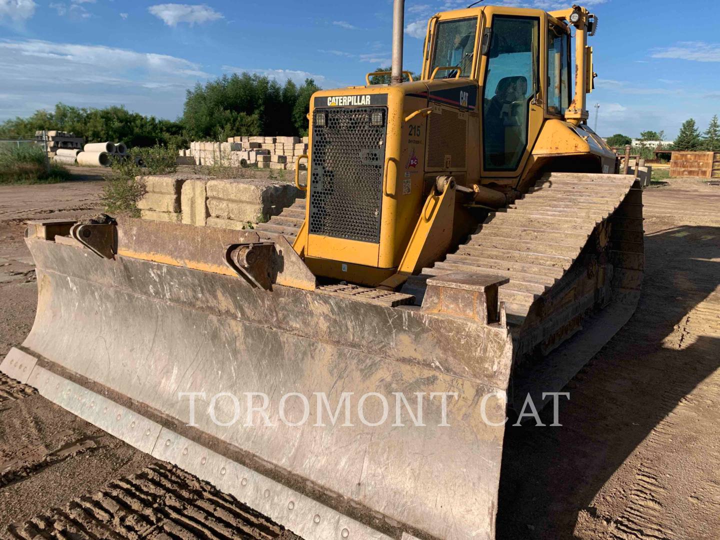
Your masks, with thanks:
M 383 125 L 372 126 L 370 113 L 378 110 Z M 387 108 L 315 112 L 328 122 L 312 127 L 310 234 L 379 243 Z

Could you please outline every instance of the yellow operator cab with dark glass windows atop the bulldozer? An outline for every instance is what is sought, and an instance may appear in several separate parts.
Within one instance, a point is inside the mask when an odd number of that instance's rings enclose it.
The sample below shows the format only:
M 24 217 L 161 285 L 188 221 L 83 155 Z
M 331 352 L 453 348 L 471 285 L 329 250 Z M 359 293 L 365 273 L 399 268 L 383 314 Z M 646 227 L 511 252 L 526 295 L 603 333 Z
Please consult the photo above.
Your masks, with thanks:
M 423 78 L 479 86 L 483 176 L 520 174 L 544 120 L 563 119 L 570 107 L 569 25 L 522 11 L 465 9 L 430 23 Z

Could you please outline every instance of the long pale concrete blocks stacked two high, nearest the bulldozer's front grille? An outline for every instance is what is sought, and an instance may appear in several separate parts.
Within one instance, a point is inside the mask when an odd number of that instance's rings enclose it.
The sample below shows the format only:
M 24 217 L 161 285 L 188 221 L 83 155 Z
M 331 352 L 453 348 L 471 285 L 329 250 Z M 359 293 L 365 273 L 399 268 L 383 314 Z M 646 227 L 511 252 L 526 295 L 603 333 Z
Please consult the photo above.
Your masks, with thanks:
M 289 207 L 300 195 L 293 184 L 264 179 L 207 182 L 207 225 L 242 229 L 248 222 L 268 220 Z

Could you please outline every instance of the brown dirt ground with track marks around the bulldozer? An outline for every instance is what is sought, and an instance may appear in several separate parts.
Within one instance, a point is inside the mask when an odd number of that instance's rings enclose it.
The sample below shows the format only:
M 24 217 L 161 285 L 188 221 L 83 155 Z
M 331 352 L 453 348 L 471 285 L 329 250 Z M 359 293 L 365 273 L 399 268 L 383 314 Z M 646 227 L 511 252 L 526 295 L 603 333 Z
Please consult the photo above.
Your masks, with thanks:
M 101 186 L 0 186 L 0 357 L 35 315 L 23 220 L 92 215 Z M 720 187 L 671 180 L 644 204 L 636 314 L 568 385 L 562 427 L 506 431 L 500 539 L 720 537 Z M 8 538 L 282 534 L 6 377 L 0 501 Z

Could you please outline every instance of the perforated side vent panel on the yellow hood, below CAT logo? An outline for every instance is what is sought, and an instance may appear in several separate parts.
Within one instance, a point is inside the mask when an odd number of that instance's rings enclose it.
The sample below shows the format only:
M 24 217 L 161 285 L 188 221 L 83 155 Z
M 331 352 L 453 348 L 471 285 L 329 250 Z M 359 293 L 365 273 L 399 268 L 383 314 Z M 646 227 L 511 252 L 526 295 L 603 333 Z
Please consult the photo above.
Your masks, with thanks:
M 465 168 L 467 120 L 456 109 L 441 109 L 430 115 L 428 134 L 428 168 L 443 171 Z M 446 164 L 450 156 L 450 164 Z

